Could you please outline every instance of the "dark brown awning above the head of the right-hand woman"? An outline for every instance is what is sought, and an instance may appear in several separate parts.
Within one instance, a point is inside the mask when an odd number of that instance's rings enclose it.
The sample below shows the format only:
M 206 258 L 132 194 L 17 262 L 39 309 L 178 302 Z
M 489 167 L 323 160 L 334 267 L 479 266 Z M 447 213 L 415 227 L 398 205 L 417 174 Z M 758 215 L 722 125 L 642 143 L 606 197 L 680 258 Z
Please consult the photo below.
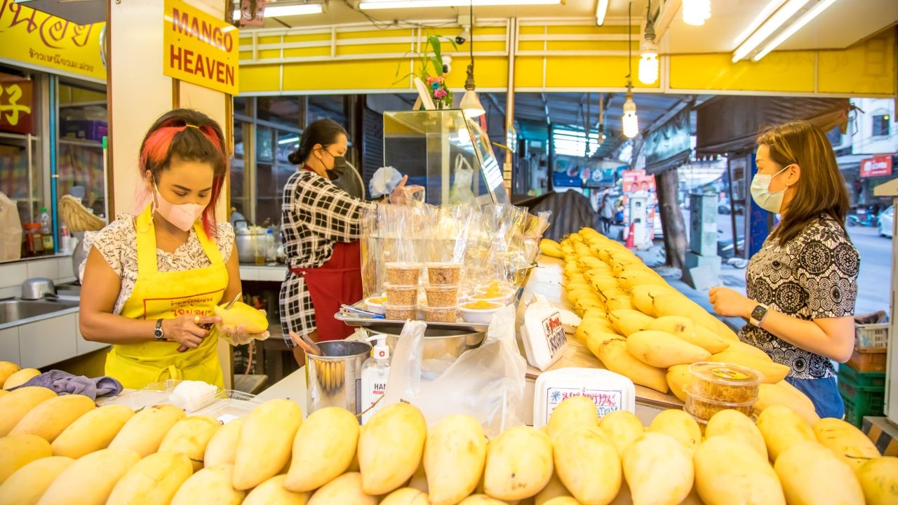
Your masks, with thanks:
M 823 131 L 848 122 L 847 98 L 716 96 L 698 108 L 696 154 L 726 155 L 754 149 L 763 128 L 807 120 Z

